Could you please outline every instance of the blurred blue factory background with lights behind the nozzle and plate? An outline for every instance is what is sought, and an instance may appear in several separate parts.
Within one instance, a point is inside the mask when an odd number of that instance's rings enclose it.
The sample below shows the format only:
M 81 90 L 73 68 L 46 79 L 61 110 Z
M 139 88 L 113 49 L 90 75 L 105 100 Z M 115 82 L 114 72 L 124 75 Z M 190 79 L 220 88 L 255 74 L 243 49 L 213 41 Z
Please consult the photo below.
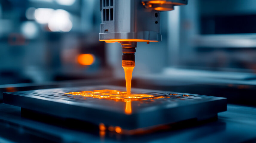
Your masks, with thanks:
M 99 41 L 99 4 L 0 0 L 0 84 L 124 80 L 119 43 Z M 162 42 L 137 44 L 132 87 L 214 96 L 254 91 L 255 5 L 193 0 L 162 12 Z M 205 86 L 210 90 L 194 88 Z

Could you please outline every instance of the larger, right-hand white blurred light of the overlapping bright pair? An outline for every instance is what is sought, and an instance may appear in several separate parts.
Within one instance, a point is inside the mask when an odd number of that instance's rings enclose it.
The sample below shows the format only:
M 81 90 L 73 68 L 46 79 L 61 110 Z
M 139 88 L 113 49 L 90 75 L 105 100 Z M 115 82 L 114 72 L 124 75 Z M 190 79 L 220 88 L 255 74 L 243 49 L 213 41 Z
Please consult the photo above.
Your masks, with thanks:
M 55 10 L 48 22 L 48 27 L 53 32 L 68 32 L 72 28 L 69 13 L 65 10 Z

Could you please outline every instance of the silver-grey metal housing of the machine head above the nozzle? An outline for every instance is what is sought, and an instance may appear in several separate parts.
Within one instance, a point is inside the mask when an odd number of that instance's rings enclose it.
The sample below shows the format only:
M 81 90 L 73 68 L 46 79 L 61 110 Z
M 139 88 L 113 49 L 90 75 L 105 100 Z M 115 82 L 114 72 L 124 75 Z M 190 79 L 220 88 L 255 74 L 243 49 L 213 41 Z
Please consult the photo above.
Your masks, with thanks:
M 114 0 L 113 5 L 102 3 L 100 7 L 100 41 L 161 41 L 160 12 L 146 9 L 141 0 Z M 111 9 L 113 20 L 109 18 Z

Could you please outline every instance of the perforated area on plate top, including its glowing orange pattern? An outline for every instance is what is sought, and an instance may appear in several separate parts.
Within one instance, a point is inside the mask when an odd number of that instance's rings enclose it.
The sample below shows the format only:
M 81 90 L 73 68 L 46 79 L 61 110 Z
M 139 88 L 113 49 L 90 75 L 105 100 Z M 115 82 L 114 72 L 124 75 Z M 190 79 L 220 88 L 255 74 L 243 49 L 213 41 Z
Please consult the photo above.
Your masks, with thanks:
M 108 98 L 104 98 L 104 100 L 111 99 L 114 101 L 124 101 L 124 99 L 129 99 L 125 97 L 125 91 L 124 88 L 119 89 L 113 89 L 112 90 L 119 90 L 120 94 L 112 93 L 111 92 L 93 92 L 96 90 L 102 90 L 106 89 L 104 87 L 94 87 L 94 88 L 61 88 L 61 89 L 45 89 L 45 90 L 35 90 L 35 91 L 19 91 L 19 92 L 13 92 L 13 94 L 19 94 L 22 96 L 29 96 L 29 97 L 35 97 L 35 98 L 45 98 L 47 100 L 65 100 L 65 101 L 72 101 L 72 102 L 89 102 L 93 100 L 99 100 L 100 98 L 95 98 L 97 96 L 104 96 Z M 107 88 L 108 89 L 108 88 Z M 83 91 L 92 91 L 93 93 L 87 93 L 89 95 L 93 95 L 91 97 L 87 95 L 80 95 L 77 94 L 79 92 Z M 73 92 L 73 93 L 72 93 Z M 65 94 L 66 93 L 66 94 Z M 67 94 L 70 93 L 70 94 Z M 152 95 L 152 97 L 149 96 L 143 96 L 143 95 Z M 113 98 L 115 97 L 115 98 Z M 118 98 L 117 98 L 118 97 Z M 203 95 L 194 95 L 194 94 L 178 94 L 178 93 L 167 93 L 167 92 L 132 92 L 132 97 L 140 97 L 140 99 L 137 98 L 130 98 L 132 101 L 139 101 L 140 103 L 153 103 L 154 101 L 157 101 L 158 103 L 164 102 L 166 100 L 172 101 L 172 102 L 186 102 L 186 101 L 198 101 L 198 100 L 206 100 L 210 97 L 203 96 Z M 111 102 L 111 101 L 110 101 Z

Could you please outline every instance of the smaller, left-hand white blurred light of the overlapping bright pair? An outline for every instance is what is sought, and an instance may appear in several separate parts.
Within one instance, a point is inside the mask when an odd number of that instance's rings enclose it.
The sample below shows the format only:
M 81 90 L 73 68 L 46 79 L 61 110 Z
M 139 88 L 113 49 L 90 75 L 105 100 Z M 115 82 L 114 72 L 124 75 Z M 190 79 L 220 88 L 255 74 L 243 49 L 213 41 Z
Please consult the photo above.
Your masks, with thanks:
M 38 8 L 35 10 L 35 18 L 38 23 L 46 24 L 51 18 L 54 10 L 51 8 Z

